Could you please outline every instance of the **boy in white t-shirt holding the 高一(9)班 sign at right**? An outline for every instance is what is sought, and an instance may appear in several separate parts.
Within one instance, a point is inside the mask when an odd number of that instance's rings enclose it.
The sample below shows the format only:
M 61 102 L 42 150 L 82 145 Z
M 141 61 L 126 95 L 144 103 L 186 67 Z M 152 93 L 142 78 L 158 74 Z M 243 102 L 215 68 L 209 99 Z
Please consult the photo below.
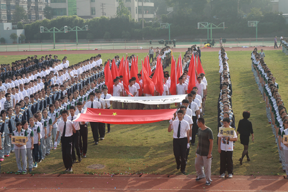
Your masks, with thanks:
M 228 117 L 225 117 L 223 120 L 223 126 L 222 127 L 230 127 L 230 119 Z M 230 127 L 232 128 L 232 127 Z M 233 141 L 237 141 L 237 135 L 235 130 L 233 131 L 233 136 L 230 137 L 223 137 L 220 136 L 220 133 L 218 133 L 218 152 L 220 153 L 220 177 L 225 177 L 225 171 L 227 169 L 228 172 L 228 178 L 232 178 L 233 176 Z

